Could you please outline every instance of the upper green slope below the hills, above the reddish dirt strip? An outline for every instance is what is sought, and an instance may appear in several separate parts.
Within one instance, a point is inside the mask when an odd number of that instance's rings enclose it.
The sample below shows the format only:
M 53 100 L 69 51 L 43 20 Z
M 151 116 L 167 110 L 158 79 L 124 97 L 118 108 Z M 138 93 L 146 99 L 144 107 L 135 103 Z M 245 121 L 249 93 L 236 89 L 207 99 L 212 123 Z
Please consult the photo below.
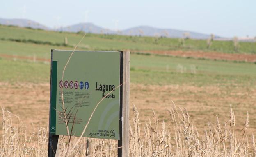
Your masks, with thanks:
M 64 45 L 64 38 L 68 38 L 68 45 L 75 46 L 82 38 L 82 33 L 53 32 L 34 30 L 19 27 L 0 26 L 0 42 L 3 40 L 16 40 L 20 42 L 36 42 L 51 44 L 52 46 Z M 46 42 L 46 43 L 44 43 Z M 181 45 L 179 39 L 136 37 L 123 35 L 87 34 L 80 44 L 80 49 L 90 50 L 192 50 L 192 51 L 217 51 L 223 53 L 256 54 L 256 43 L 240 42 L 238 51 L 234 50 L 232 41 L 213 41 L 212 46 L 206 49 L 206 40 L 185 40 Z

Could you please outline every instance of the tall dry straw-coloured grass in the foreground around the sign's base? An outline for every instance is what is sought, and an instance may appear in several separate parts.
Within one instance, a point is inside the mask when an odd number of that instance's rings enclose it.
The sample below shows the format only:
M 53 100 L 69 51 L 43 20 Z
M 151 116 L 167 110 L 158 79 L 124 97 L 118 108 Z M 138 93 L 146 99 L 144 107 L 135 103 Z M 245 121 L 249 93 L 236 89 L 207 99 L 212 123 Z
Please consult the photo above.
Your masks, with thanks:
M 133 118 L 130 120 L 130 157 L 252 157 L 255 156 L 255 139 L 247 135 L 249 115 L 245 117 L 242 139 L 237 138 L 235 130 L 235 115 L 230 109 L 229 121 L 218 119 L 216 124 L 208 124 L 204 134 L 199 134 L 190 122 L 186 109 L 175 105 L 169 109 L 172 128 L 166 129 L 165 121 L 152 111 L 153 122 L 148 120 L 142 126 L 139 112 L 133 106 Z M 227 115 L 228 116 L 228 115 Z M 18 120 L 19 123 L 13 123 Z M 33 127 L 34 132 L 28 134 L 27 127 L 19 117 L 2 109 L 2 139 L 0 145 L 1 157 L 42 157 L 48 152 L 48 128 L 40 125 Z M 86 156 L 86 138 L 75 145 L 77 138 L 71 140 L 72 152 L 69 157 Z M 68 137 L 60 140 L 60 157 L 64 157 L 68 148 Z M 114 140 L 93 139 L 93 156 L 117 156 L 117 142 Z

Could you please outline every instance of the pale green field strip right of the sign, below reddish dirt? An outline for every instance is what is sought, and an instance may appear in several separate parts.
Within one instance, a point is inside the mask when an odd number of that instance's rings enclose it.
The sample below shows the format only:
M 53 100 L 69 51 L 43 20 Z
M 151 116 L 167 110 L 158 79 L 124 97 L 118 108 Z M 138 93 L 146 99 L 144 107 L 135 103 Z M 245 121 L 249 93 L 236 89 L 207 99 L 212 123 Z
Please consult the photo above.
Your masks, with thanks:
M 144 84 L 255 86 L 256 64 L 131 55 L 131 81 Z

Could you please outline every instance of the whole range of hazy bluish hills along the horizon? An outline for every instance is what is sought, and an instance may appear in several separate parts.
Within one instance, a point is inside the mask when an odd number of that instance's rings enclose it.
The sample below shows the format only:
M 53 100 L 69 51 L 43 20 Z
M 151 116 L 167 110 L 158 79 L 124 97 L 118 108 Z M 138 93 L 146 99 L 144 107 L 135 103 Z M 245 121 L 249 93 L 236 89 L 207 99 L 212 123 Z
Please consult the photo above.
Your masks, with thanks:
M 0 18 L 0 24 L 3 25 L 14 25 L 18 27 L 31 27 L 33 29 L 46 29 L 53 30 L 46 27 L 38 22 L 27 20 L 27 19 L 3 19 Z M 192 31 L 176 30 L 176 29 L 159 29 L 149 26 L 139 26 L 130 29 L 113 31 L 105 29 L 103 27 L 96 26 L 92 23 L 80 23 L 74 24 L 68 27 L 60 27 L 55 31 L 67 31 L 67 32 L 87 32 L 96 34 L 119 34 L 119 35 L 136 35 L 136 36 L 157 36 L 157 37 L 168 37 L 168 38 L 193 38 L 193 39 L 207 39 L 209 34 L 197 33 Z M 220 38 L 215 35 L 215 39 Z

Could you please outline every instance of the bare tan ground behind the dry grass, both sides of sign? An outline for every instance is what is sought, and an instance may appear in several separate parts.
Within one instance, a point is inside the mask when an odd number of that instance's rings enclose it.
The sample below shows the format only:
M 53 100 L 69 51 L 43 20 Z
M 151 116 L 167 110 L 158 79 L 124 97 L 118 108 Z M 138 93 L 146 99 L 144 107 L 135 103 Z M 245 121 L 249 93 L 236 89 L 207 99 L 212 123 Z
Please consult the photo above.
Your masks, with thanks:
M 0 83 L 0 106 L 18 115 L 24 124 L 48 126 L 50 100 L 49 84 Z M 172 101 L 178 107 L 185 107 L 199 133 L 207 129 L 207 123 L 215 125 L 216 115 L 222 126 L 229 120 L 229 108 L 233 107 L 236 116 L 236 129 L 242 134 L 243 124 L 249 111 L 249 133 L 256 132 L 256 88 L 179 86 L 131 84 L 130 117 L 133 117 L 132 104 L 137 106 L 142 124 L 153 118 L 152 109 L 159 119 L 166 120 L 171 128 L 168 108 Z M 2 126 L 0 125 L 0 128 Z

